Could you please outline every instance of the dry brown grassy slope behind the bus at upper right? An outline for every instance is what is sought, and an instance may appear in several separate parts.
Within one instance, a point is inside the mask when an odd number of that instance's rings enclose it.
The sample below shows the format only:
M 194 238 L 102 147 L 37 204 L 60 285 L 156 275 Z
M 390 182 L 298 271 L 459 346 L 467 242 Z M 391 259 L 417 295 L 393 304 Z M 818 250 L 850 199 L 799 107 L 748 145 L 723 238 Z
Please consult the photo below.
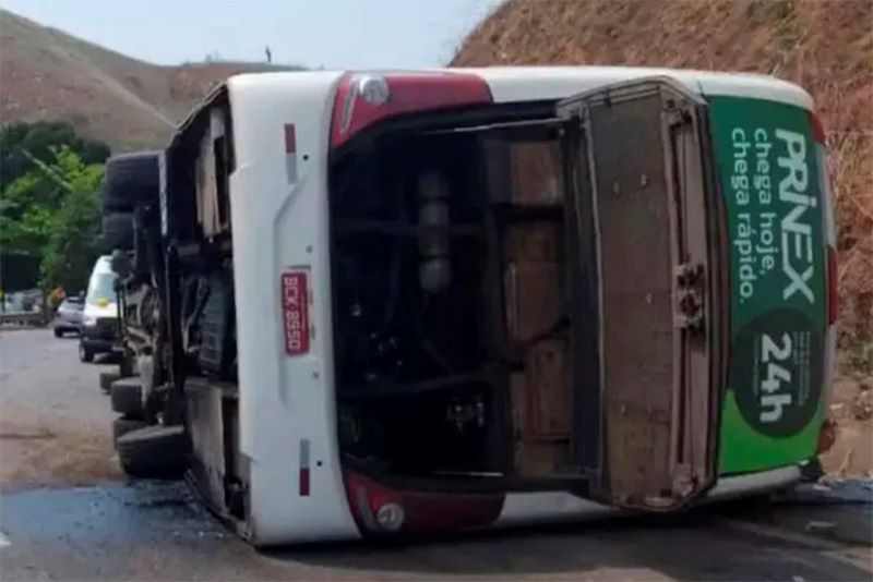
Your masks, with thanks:
M 754 71 L 812 93 L 832 153 L 842 343 L 871 365 L 873 2 L 510 0 L 469 34 L 452 62 L 547 63 Z

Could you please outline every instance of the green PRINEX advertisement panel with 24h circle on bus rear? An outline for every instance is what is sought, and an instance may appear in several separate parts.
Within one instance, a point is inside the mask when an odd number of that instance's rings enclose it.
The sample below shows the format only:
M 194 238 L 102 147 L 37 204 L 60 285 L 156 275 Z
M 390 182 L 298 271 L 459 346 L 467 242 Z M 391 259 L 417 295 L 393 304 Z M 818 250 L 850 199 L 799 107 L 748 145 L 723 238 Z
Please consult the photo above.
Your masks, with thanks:
M 730 244 L 730 362 L 719 473 L 815 453 L 826 264 L 816 143 L 799 107 L 709 99 Z

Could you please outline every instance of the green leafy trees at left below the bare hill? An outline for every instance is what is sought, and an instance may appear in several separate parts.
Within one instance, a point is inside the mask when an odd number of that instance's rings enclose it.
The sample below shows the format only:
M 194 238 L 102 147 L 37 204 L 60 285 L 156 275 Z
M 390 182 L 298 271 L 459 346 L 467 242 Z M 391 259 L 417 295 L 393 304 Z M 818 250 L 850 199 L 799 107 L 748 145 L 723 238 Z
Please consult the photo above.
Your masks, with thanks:
M 9 257 L 39 264 L 38 281 L 3 269 L 3 288 L 85 287 L 97 255 L 108 155 L 105 144 L 82 140 L 65 123 L 16 123 L 0 131 L 0 248 L 7 265 Z

